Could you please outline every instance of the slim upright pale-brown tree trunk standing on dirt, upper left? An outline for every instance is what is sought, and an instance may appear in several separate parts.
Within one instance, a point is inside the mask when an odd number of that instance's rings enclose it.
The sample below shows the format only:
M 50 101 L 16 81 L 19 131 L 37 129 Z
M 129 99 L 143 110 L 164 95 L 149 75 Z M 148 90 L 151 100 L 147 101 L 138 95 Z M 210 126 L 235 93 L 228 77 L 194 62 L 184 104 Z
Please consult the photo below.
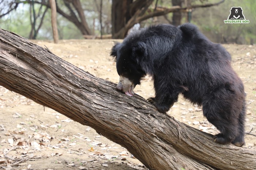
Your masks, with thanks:
M 52 13 L 52 34 L 53 34 L 53 41 L 54 43 L 58 43 L 59 41 L 59 34 L 57 28 L 57 12 L 56 12 L 56 2 L 55 0 L 50 0 L 51 5 L 51 13 Z

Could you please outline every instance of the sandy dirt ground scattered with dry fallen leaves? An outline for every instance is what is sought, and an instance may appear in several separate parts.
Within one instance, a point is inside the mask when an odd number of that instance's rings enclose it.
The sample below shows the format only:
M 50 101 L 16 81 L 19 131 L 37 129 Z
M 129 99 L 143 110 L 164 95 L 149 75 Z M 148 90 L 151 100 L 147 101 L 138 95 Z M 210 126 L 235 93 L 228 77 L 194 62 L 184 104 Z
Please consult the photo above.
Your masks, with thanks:
M 109 56 L 116 40 L 34 41 L 60 58 L 91 74 L 118 82 L 116 65 Z M 117 40 L 121 41 L 121 40 Z M 232 66 L 245 85 L 247 133 L 256 135 L 256 46 L 223 45 L 232 55 Z M 146 77 L 135 93 L 154 96 L 153 83 Z M 168 114 L 202 131 L 218 131 L 202 108 L 179 97 Z M 256 137 L 245 135 L 244 147 L 256 149 Z M 125 148 L 98 135 L 50 108 L 0 86 L 0 168 L 2 169 L 146 169 Z

